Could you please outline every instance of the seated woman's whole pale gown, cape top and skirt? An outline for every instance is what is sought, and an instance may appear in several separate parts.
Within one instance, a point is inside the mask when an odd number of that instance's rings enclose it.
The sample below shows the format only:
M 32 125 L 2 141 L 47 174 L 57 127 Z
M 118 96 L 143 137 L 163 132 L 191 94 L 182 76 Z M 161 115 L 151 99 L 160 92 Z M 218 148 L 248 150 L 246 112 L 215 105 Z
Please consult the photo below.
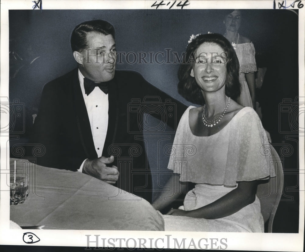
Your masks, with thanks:
M 264 155 L 269 142 L 253 108 L 242 108 L 222 130 L 208 137 L 195 136 L 190 130 L 191 108 L 181 118 L 168 165 L 168 169 L 180 174 L 180 181 L 196 183 L 180 209 L 210 204 L 234 190 L 238 181 L 275 176 L 269 157 Z M 163 215 L 163 219 L 165 231 L 264 232 L 257 197 L 252 204 L 224 218 Z

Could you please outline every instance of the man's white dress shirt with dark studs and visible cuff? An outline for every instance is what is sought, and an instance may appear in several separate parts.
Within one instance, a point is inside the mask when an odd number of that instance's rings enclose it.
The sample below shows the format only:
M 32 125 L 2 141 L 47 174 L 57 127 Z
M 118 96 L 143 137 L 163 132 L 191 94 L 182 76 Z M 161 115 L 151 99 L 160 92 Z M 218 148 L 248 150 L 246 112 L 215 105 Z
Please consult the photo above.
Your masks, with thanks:
M 108 129 L 108 94 L 105 94 L 99 87 L 95 87 L 95 89 L 87 95 L 85 94 L 84 89 L 84 76 L 79 69 L 78 79 L 89 117 L 95 151 L 98 157 L 101 157 Z M 80 169 L 78 169 L 79 172 L 82 172 L 86 160 L 87 159 L 83 161 Z

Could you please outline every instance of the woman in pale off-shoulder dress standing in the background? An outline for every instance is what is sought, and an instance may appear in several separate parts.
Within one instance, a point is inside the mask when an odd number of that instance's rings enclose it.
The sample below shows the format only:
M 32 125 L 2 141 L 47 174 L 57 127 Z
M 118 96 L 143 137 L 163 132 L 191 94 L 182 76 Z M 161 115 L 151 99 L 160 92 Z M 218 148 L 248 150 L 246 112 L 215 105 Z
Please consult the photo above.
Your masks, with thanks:
M 229 13 L 224 16 L 224 37 L 233 45 L 239 60 L 239 82 L 242 86 L 238 102 L 244 107 L 253 107 L 255 109 L 254 73 L 257 71 L 255 49 L 249 38 L 239 34 L 238 30 L 241 22 L 242 15 L 240 10 L 230 10 Z

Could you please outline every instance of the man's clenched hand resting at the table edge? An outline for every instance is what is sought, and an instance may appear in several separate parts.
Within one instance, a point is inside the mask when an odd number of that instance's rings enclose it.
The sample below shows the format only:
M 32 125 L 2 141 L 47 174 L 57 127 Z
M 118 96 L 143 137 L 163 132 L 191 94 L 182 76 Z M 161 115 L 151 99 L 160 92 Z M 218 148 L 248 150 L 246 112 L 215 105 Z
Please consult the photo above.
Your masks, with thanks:
M 92 177 L 105 181 L 108 184 L 114 184 L 119 178 L 119 172 L 116 166 L 107 167 L 106 164 L 111 164 L 114 157 L 100 157 L 93 160 L 87 159 L 84 162 L 83 172 Z

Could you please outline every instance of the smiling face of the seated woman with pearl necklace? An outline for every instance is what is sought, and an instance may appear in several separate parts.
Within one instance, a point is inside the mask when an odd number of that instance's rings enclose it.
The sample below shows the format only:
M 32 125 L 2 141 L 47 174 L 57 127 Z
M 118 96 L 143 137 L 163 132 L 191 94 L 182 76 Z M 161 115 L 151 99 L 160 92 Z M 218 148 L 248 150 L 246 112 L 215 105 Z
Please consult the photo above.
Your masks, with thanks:
M 203 92 L 224 88 L 227 77 L 226 52 L 216 43 L 204 42 L 196 50 L 191 76 Z

